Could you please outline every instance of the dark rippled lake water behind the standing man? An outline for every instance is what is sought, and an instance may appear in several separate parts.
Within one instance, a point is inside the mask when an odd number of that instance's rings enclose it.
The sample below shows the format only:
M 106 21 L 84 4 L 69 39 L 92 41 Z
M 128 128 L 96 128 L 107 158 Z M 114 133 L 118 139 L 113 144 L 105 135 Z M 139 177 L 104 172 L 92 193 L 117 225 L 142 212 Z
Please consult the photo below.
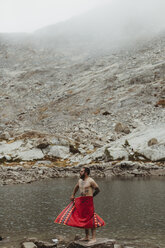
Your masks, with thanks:
M 68 205 L 77 179 L 52 179 L 0 187 L 0 234 L 51 239 L 81 229 L 54 224 Z M 96 212 L 107 225 L 98 236 L 165 247 L 165 179 L 97 179 Z

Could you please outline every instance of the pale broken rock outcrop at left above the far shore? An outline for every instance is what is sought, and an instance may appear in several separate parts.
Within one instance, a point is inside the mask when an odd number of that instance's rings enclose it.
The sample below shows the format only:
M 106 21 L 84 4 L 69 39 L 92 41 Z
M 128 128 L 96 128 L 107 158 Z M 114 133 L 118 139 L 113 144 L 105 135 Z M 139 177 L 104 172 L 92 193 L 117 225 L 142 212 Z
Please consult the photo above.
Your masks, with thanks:
M 0 160 L 2 162 L 6 160 L 33 161 L 43 159 L 45 156 L 67 158 L 69 155 L 69 145 L 66 145 L 68 141 L 64 142 L 64 139 L 56 139 L 56 141 L 65 146 L 53 145 L 53 139 L 49 142 L 46 138 L 0 142 Z

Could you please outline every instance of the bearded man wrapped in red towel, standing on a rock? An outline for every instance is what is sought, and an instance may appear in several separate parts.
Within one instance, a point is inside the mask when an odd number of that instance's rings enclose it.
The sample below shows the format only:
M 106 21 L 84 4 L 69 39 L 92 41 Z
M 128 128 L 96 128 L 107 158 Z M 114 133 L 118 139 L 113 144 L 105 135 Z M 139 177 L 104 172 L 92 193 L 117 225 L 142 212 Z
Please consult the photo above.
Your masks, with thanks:
M 94 212 L 93 197 L 100 192 L 100 189 L 89 174 L 90 169 L 87 167 L 80 170 L 80 179 L 74 187 L 71 203 L 56 218 L 55 223 L 84 228 L 85 238 L 81 239 L 84 241 L 89 241 L 89 229 L 91 229 L 92 239 L 88 244 L 93 244 L 96 242 L 96 228 L 104 226 L 105 222 Z M 81 196 L 75 198 L 78 190 Z

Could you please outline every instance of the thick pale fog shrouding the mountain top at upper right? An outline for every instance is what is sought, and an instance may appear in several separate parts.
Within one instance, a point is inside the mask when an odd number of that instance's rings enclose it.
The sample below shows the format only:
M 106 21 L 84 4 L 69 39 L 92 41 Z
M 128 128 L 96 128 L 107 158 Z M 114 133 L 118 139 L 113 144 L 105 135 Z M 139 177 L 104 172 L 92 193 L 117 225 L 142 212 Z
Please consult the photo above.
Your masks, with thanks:
M 97 1 L 98 3 L 99 1 Z M 36 30 L 33 40 L 54 47 L 120 47 L 165 31 L 165 0 L 109 0 Z

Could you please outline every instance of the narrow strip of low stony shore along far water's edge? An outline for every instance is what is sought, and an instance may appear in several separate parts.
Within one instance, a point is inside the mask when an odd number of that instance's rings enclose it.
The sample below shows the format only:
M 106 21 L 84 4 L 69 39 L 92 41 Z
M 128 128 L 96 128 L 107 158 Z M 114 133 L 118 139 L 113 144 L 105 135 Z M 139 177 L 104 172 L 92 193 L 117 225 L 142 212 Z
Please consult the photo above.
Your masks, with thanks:
M 48 161 L 43 161 L 48 162 Z M 108 162 L 89 166 L 92 177 L 149 177 L 165 176 L 164 164 L 143 163 L 143 162 Z M 33 165 L 0 166 L 0 185 L 32 183 L 34 181 L 60 178 L 78 177 L 80 166 L 72 167 L 46 167 Z

